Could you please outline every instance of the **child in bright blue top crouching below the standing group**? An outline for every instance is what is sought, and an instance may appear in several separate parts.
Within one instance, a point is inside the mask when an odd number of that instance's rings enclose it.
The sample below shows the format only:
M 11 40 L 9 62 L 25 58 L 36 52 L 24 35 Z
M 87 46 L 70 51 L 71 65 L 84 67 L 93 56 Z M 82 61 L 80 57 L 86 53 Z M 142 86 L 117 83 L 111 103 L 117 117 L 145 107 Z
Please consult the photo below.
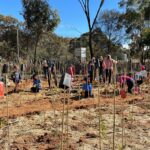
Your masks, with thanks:
M 84 91 L 84 97 L 93 97 L 92 95 L 92 83 L 89 78 L 84 78 L 85 83 L 83 84 L 82 90 Z

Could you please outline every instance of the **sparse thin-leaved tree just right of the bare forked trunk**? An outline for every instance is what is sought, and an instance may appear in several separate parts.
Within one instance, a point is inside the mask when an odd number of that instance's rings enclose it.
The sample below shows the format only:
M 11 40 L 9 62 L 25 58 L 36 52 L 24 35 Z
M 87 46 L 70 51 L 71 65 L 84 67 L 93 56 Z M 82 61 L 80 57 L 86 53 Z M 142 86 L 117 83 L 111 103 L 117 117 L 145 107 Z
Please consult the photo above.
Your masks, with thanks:
M 116 10 L 106 10 L 98 17 L 97 24 L 107 36 L 107 53 L 112 53 L 115 45 L 120 45 L 122 41 L 122 24 L 119 22 L 120 13 Z

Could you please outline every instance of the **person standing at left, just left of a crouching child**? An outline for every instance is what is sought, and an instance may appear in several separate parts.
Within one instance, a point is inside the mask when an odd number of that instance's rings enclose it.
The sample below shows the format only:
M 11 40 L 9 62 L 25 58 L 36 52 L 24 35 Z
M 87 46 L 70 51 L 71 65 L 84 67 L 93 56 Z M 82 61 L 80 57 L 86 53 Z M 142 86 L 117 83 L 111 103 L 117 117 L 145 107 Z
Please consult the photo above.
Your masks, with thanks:
M 21 81 L 21 74 L 19 72 L 18 66 L 15 65 L 13 69 L 14 69 L 14 72 L 11 75 L 11 79 L 13 80 L 13 82 L 15 84 L 14 92 L 17 92 L 19 82 Z

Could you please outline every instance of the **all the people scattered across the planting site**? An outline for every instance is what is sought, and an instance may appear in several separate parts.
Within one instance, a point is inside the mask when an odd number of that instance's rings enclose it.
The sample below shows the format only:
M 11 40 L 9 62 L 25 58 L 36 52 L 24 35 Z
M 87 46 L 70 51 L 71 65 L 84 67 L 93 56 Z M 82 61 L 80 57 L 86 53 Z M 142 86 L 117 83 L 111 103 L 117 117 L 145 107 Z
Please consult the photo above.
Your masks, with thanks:
M 95 59 L 94 57 L 88 63 L 88 71 L 86 75 L 84 75 L 84 83 L 82 86 L 82 90 L 84 93 L 84 97 L 93 97 L 92 94 L 92 85 L 93 81 L 97 80 L 98 82 L 104 82 L 110 84 L 112 82 L 112 76 L 114 71 L 114 66 L 117 65 L 117 61 L 111 58 L 111 55 L 107 55 L 105 58 L 102 56 L 100 59 Z M 2 74 L 7 74 L 8 66 L 6 64 L 3 65 Z M 73 81 L 75 75 L 75 67 L 73 64 L 68 66 L 66 72 L 70 75 L 71 80 Z M 65 74 L 62 75 L 61 80 L 58 85 L 58 77 L 57 71 L 55 67 L 55 63 L 48 62 L 46 60 L 43 61 L 43 74 L 44 78 L 48 81 L 48 86 L 51 88 L 51 79 L 53 76 L 54 83 L 56 86 L 63 88 L 63 80 Z M 0 80 L 4 81 L 5 76 L 0 76 Z M 139 87 L 144 80 L 147 78 L 147 71 L 145 66 L 141 66 L 141 70 L 136 74 L 119 74 L 116 78 L 116 81 L 120 84 L 121 88 L 124 88 L 127 85 L 128 92 L 132 93 L 133 87 Z M 14 92 L 17 91 L 18 85 L 21 81 L 21 73 L 20 68 L 15 65 L 13 67 L 13 73 L 11 74 L 10 79 L 14 82 Z M 41 81 L 38 77 L 38 74 L 34 73 L 32 75 L 33 86 L 31 87 L 32 92 L 39 92 L 42 89 Z

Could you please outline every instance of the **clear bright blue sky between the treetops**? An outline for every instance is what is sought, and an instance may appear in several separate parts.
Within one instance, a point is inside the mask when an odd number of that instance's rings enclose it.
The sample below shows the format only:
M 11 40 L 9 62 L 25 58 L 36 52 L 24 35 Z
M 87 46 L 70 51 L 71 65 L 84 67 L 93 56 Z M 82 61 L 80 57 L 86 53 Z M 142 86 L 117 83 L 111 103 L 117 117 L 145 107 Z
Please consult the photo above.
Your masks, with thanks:
M 97 9 L 99 0 L 91 0 L 91 17 Z M 120 0 L 105 0 L 102 10 L 119 9 Z M 61 23 L 55 33 L 64 37 L 79 37 L 88 31 L 87 21 L 78 0 L 48 0 L 53 9 L 57 9 Z M 0 14 L 11 15 L 23 21 L 21 0 L 0 0 Z

